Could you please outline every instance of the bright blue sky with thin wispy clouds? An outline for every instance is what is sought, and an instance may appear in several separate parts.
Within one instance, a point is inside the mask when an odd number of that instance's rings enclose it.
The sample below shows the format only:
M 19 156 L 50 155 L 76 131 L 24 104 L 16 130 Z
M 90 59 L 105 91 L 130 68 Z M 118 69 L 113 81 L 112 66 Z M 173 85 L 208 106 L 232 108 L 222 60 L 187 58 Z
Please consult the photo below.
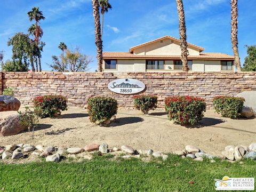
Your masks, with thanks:
M 26 33 L 31 25 L 27 12 L 38 6 L 46 18 L 41 22 L 46 43 L 42 68 L 50 70 L 51 55 L 59 55 L 58 45 L 80 47 L 91 55 L 91 71 L 97 68 L 91 0 L 0 0 L 0 50 L 11 59 L 6 45 L 15 33 Z M 131 46 L 170 35 L 179 38 L 179 21 L 174 0 L 110 0 L 113 6 L 105 15 L 103 51 L 129 51 Z M 230 43 L 229 0 L 183 0 L 187 41 L 205 48 L 205 52 L 233 54 Z M 246 57 L 244 45 L 256 44 L 256 1 L 238 1 L 238 39 L 241 62 Z

